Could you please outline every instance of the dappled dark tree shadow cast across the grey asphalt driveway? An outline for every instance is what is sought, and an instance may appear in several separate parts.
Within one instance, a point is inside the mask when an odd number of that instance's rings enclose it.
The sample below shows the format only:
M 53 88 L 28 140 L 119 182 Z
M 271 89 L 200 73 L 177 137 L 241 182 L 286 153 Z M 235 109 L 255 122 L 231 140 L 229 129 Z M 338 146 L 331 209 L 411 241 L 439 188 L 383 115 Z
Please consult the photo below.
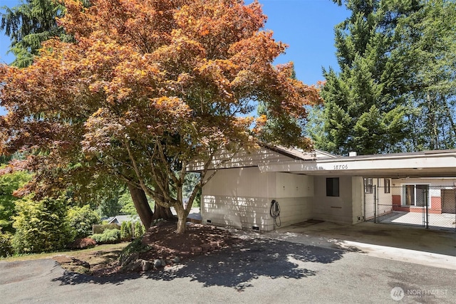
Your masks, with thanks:
M 196 256 L 185 264 L 167 267 L 160 271 L 128 273 L 98 278 L 66 271 L 63 276 L 53 279 L 61 285 L 81 283 L 115 284 L 145 277 L 152 280 L 172 281 L 176 278 L 190 278 L 203 283 L 204 287 L 225 286 L 244 290 L 252 280 L 261 276 L 269 278 L 306 278 L 316 276 L 316 271 L 307 267 L 312 263 L 333 263 L 343 257 L 344 251 L 332 248 L 306 246 L 271 239 L 243 240 L 232 248 Z M 304 264 L 305 263 L 305 264 Z

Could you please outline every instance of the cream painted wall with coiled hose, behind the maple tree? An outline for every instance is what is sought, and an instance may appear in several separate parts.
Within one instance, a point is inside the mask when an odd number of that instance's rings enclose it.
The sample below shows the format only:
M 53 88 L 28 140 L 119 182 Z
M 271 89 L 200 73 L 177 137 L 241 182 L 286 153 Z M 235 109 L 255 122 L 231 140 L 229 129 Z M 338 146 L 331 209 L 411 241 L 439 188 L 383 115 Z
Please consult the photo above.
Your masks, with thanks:
M 313 177 L 258 167 L 222 169 L 202 189 L 202 223 L 271 231 L 272 199 L 279 202 L 281 226 L 288 226 L 312 218 L 313 195 Z

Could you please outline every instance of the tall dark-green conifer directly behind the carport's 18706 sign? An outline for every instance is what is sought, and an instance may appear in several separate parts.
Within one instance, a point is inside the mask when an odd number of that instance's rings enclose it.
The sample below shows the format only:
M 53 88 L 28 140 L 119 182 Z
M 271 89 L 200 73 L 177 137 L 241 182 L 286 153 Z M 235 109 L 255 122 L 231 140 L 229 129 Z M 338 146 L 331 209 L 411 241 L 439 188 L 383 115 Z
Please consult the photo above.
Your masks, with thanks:
M 396 75 L 398 63 L 388 54 L 395 48 L 400 16 L 419 8 L 416 1 L 346 1 L 351 16 L 336 26 L 341 72 L 323 70 L 323 112 L 314 114 L 309 133 L 316 147 L 336 154 L 395 152 L 408 135 L 404 90 Z M 394 84 L 398 84 L 395 86 Z M 318 108 L 317 108 L 318 111 Z M 316 129 L 321 127 L 322 132 Z

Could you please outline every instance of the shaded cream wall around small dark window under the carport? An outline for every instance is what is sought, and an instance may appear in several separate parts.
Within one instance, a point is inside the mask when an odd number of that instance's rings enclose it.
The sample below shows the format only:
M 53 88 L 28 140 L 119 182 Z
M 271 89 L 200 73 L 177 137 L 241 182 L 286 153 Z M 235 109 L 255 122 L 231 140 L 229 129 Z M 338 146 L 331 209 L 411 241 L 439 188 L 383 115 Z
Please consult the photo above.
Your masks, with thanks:
M 356 223 L 358 216 L 362 216 L 363 198 L 362 192 L 359 190 L 361 177 L 338 178 L 339 196 L 326 196 L 326 177 L 314 177 L 313 218 L 344 224 Z M 353 184 L 358 184 L 358 186 L 353 187 Z M 358 205 L 354 206 L 355 204 Z M 354 221 L 355 218 L 356 221 Z

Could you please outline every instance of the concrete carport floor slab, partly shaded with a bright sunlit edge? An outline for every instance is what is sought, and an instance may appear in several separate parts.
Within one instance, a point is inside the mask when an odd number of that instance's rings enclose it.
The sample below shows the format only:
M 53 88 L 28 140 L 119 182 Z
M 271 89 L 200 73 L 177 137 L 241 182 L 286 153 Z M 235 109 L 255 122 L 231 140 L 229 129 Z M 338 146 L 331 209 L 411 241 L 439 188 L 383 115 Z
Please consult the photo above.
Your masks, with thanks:
M 356 225 L 323 222 L 287 226 L 262 236 L 456 270 L 454 232 L 367 222 Z

